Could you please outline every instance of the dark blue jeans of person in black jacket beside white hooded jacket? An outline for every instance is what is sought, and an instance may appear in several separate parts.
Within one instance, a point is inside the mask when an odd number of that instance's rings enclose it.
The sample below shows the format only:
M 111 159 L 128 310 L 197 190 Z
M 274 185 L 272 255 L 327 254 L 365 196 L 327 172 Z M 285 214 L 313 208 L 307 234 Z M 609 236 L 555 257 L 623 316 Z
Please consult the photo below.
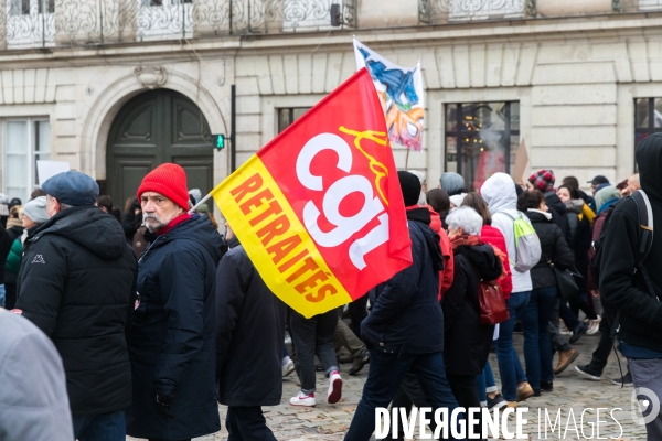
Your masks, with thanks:
M 522 314 L 526 377 L 534 389 L 541 388 L 541 381 L 554 380 L 547 326 L 556 300 L 556 287 L 534 289 Z

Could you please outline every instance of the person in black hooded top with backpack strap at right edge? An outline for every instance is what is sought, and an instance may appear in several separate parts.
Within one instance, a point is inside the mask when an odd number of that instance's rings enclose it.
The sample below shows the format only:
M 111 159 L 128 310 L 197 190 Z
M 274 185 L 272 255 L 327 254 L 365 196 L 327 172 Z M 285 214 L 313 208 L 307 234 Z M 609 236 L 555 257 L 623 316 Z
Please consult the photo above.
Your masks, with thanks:
M 653 232 L 662 228 L 662 133 L 641 141 L 636 160 L 641 190 L 619 203 L 609 218 L 601 244 L 599 287 L 605 301 L 618 311 L 620 352 L 628 357 L 634 387 L 645 386 L 660 399 L 662 247 L 655 246 Z M 639 400 L 652 398 L 639 390 Z M 649 441 L 662 439 L 662 415 L 656 410 L 645 424 Z

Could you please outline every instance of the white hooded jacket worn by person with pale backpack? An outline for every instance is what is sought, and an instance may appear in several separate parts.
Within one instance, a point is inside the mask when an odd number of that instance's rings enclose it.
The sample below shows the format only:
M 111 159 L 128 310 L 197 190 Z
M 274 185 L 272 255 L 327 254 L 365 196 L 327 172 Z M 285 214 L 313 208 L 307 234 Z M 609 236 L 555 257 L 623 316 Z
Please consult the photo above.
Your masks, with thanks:
M 515 182 L 505 173 L 494 173 L 481 186 L 480 194 L 488 203 L 488 208 L 490 208 L 492 226 L 499 229 L 505 238 L 509 258 L 514 259 L 516 255 L 514 220 L 508 215 L 513 218 L 519 216 Z M 525 215 L 522 217 L 530 222 Z M 525 292 L 533 289 L 530 271 L 520 272 L 511 263 L 511 272 L 513 273 L 513 292 Z

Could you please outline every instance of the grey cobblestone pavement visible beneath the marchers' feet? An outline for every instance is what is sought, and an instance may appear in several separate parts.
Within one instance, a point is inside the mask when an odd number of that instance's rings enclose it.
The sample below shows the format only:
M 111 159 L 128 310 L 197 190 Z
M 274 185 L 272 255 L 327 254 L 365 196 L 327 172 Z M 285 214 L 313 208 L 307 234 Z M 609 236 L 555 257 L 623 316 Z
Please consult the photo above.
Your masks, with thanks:
M 521 402 L 520 407 L 528 406 L 528 413 L 525 418 L 528 420 L 524 426 L 524 433 L 528 433 L 531 440 L 579 440 L 579 439 L 598 439 L 596 433 L 597 408 L 607 408 L 600 410 L 599 419 L 602 421 L 599 424 L 600 439 L 622 439 L 622 440 L 645 440 L 645 429 L 643 426 L 637 426 L 631 417 L 631 395 L 632 388 L 615 386 L 611 384 L 611 378 L 620 377 L 618 363 L 613 353 L 609 359 L 609 364 L 605 369 L 601 381 L 591 381 L 581 378 L 575 370 L 576 364 L 586 364 L 590 359 L 590 354 L 598 343 L 599 334 L 585 335 L 577 344 L 574 345 L 580 352 L 577 362 L 572 365 L 566 372 L 562 373 L 554 380 L 554 391 L 543 392 L 542 397 L 531 398 L 525 402 Z M 515 347 L 522 354 L 522 334 L 515 334 Z M 495 355 L 490 355 L 490 362 L 494 375 L 499 375 L 499 369 L 495 364 Z M 556 363 L 556 358 L 555 358 Z M 522 359 L 524 366 L 524 361 Z M 621 358 L 623 372 L 626 372 L 626 362 Z M 350 365 L 341 365 L 342 370 L 348 370 Z M 280 406 L 264 408 L 267 423 L 274 431 L 278 440 L 342 440 L 346 432 L 356 405 L 361 398 L 363 383 L 367 376 L 367 366 L 355 377 L 343 375 L 343 398 L 337 405 L 328 405 L 325 402 L 327 379 L 321 373 L 318 373 L 318 405 L 314 408 L 295 408 L 289 406 L 290 397 L 295 396 L 298 388 L 298 380 L 295 374 L 284 380 L 282 400 Z M 499 384 L 499 379 L 496 381 Z M 581 423 L 581 413 L 585 409 L 591 408 L 584 412 L 584 423 Z M 613 411 L 613 417 L 622 426 L 620 427 L 610 418 L 609 412 L 613 408 L 622 410 Z M 538 409 L 542 415 L 541 433 L 538 437 Z M 549 415 L 551 421 L 556 420 L 556 416 L 560 409 L 560 426 L 563 433 L 559 435 L 558 426 L 554 433 L 548 427 L 547 435 L 545 437 L 545 409 Z M 570 409 L 573 410 L 570 416 Z M 225 419 L 225 407 L 218 407 L 221 420 Z M 514 418 L 511 418 L 514 420 Z M 575 432 L 575 424 L 578 432 Z M 512 428 L 514 429 L 514 422 Z M 566 428 L 568 429 L 567 431 Z M 581 432 L 584 429 L 584 433 Z M 620 438 L 619 438 L 620 437 Z M 225 428 L 214 435 L 207 435 L 195 439 L 196 441 L 216 441 L 227 439 Z M 418 439 L 418 438 L 415 438 Z M 134 440 L 130 437 L 127 440 Z

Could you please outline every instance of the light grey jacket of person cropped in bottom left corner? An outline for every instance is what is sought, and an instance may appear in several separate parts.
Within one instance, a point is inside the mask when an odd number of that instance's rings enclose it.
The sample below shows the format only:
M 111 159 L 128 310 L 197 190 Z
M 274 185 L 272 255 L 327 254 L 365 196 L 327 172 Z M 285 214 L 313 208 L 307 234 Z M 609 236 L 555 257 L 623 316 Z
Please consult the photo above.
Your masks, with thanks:
M 29 320 L 0 308 L 0 441 L 72 441 L 62 358 Z

